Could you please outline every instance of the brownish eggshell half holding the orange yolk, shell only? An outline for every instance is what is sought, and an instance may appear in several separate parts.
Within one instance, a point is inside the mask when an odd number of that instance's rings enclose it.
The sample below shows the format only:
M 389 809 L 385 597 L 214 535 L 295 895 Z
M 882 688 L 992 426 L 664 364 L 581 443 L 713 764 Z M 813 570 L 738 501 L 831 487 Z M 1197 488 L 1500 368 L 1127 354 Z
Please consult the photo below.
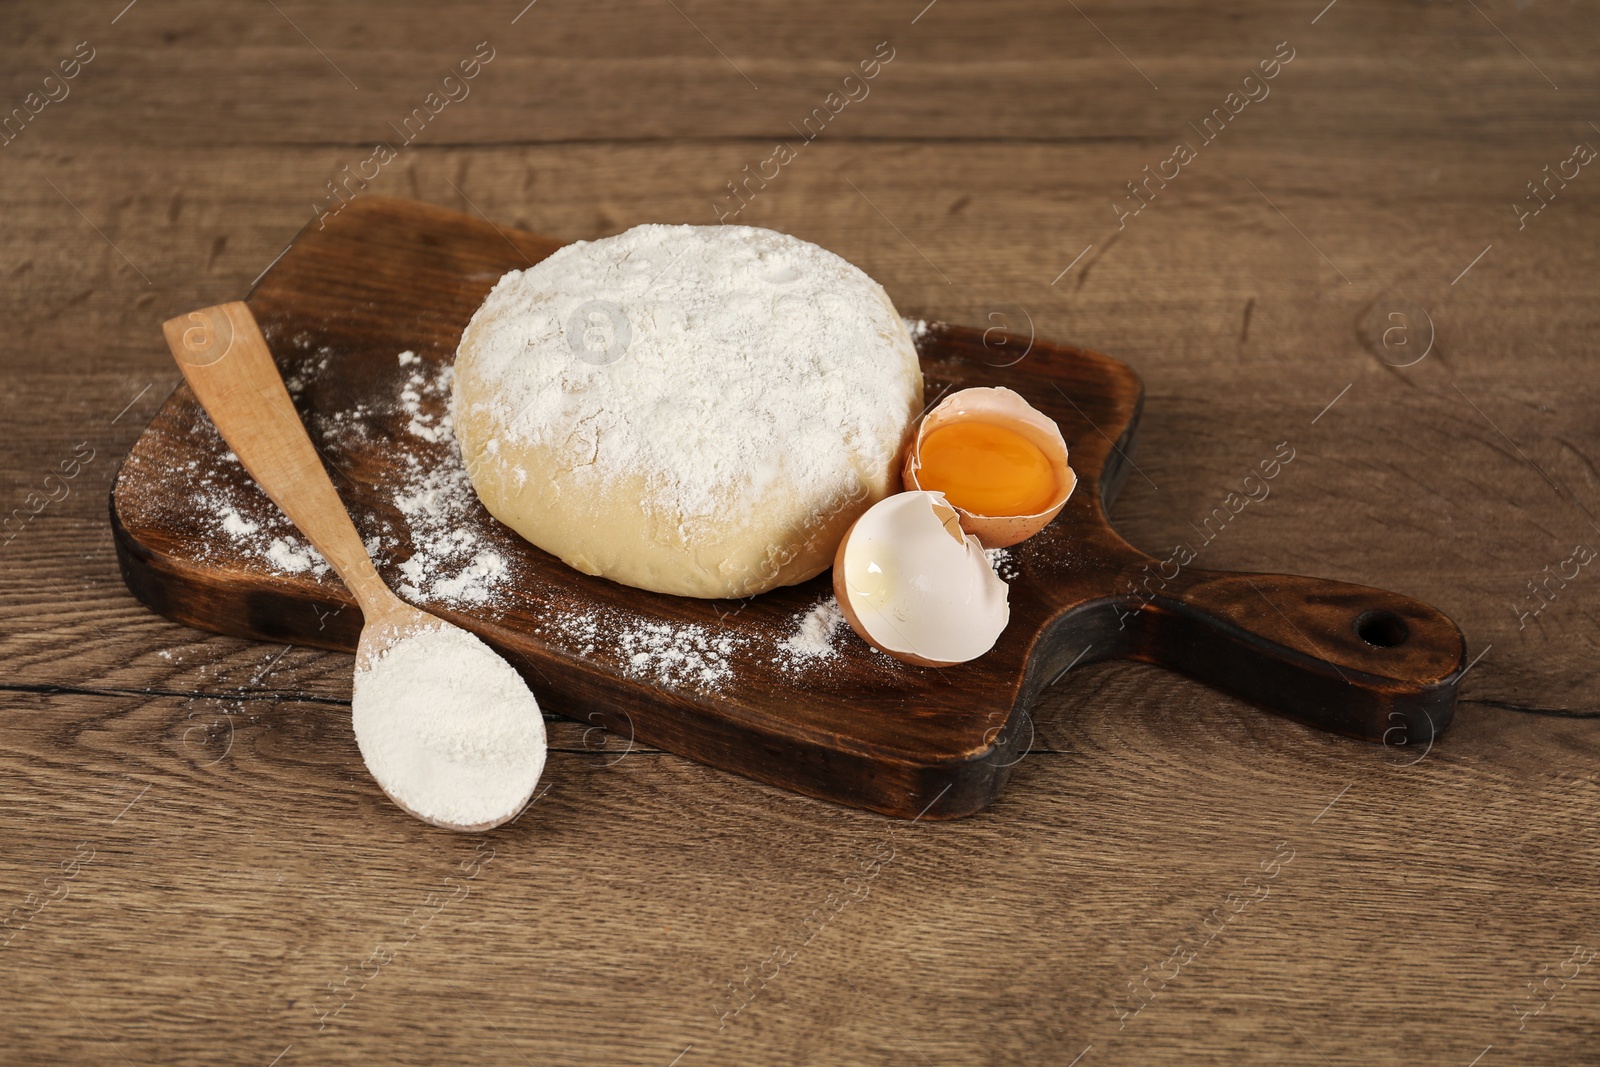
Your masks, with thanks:
M 1067 442 L 1061 437 L 1061 427 L 1056 426 L 1054 419 L 1024 400 L 1021 394 L 1010 389 L 989 387 L 954 392 L 923 416 L 910 448 L 906 450 L 906 466 L 901 470 L 901 478 L 907 490 L 923 488 L 917 480 L 917 472 L 922 470 L 923 438 L 942 426 L 962 421 L 994 422 L 1014 430 L 1038 446 L 1045 453 L 1045 459 L 1050 461 L 1050 467 L 1056 475 L 1056 494 L 1051 506 L 1042 512 L 1032 515 L 974 515 L 954 504 L 949 506 L 955 507 L 955 512 L 962 517 L 962 530 L 974 534 L 986 549 L 1005 549 L 1019 541 L 1027 541 L 1061 514 L 1067 498 L 1072 496 L 1072 490 L 1078 485 L 1077 474 L 1067 466 Z

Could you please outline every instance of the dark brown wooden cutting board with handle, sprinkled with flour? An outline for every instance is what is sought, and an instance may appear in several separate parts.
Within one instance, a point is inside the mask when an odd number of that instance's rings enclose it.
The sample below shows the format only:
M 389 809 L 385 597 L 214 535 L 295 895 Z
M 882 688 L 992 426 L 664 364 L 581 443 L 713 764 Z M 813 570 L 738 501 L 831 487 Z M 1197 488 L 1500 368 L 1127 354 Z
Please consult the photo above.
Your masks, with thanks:
M 378 537 L 384 577 L 414 582 L 405 563 L 440 552 L 442 522 L 466 531 L 467 549 L 502 565 L 493 590 L 474 601 L 482 590 L 469 574 L 466 593 L 434 585 L 411 597 L 504 653 L 546 710 L 813 797 L 930 819 L 994 800 L 1030 741 L 1027 705 L 1069 667 L 1101 659 L 1162 664 L 1374 742 L 1424 745 L 1450 723 L 1466 649 L 1446 616 L 1378 589 L 1202 571 L 1133 549 L 1106 506 L 1130 470 L 1139 378 L 1098 352 L 994 331 L 936 326 L 918 341 L 930 402 L 952 387 L 1014 389 L 1061 424 L 1078 488 L 1054 523 L 1010 550 L 1011 622 L 981 659 L 910 667 L 848 629 L 822 656 L 795 653 L 802 619 L 829 597 L 827 574 L 706 601 L 573 571 L 462 491 L 459 456 L 438 432 L 446 368 L 472 312 L 506 270 L 555 248 L 442 208 L 363 197 L 307 226 L 248 298 L 357 528 Z M 454 504 L 427 515 L 429 477 L 450 470 Z M 187 387 L 123 461 L 112 526 L 128 587 L 155 611 L 354 651 L 358 609 L 298 552 L 304 541 Z M 450 558 L 461 568 L 467 555 Z

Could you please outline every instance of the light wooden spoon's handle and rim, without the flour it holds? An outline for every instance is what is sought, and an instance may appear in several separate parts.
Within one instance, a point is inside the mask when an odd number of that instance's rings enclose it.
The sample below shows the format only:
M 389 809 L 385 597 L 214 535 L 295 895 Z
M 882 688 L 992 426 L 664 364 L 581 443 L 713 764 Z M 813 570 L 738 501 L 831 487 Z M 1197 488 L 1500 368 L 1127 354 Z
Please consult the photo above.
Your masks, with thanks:
M 378 576 L 355 523 L 350 522 L 317 446 L 294 411 L 283 378 L 272 362 L 256 317 L 243 302 L 205 307 L 162 325 L 173 358 L 189 387 L 211 416 L 240 464 L 266 490 L 272 502 L 299 526 L 322 552 L 362 608 L 362 638 L 355 651 L 360 675 L 398 641 L 453 624 L 413 608 Z M 544 733 L 539 721 L 542 758 Z M 371 771 L 371 765 L 368 763 Z M 410 814 L 446 830 L 477 832 L 507 822 L 528 803 L 528 793 L 510 811 L 483 822 L 459 825 L 419 814 L 402 803 L 389 782 L 373 774 L 378 785 Z

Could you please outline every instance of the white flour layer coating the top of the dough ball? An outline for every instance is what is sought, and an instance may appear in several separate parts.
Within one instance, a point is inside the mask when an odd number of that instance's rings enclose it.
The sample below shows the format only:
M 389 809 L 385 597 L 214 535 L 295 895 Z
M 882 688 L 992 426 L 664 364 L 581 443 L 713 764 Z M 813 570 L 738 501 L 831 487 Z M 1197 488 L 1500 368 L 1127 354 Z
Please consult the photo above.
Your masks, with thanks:
M 747 226 L 568 245 L 501 278 L 467 336 L 509 440 L 597 491 L 642 478 L 640 507 L 686 539 L 774 485 L 846 498 L 894 462 L 915 386 L 877 283 Z

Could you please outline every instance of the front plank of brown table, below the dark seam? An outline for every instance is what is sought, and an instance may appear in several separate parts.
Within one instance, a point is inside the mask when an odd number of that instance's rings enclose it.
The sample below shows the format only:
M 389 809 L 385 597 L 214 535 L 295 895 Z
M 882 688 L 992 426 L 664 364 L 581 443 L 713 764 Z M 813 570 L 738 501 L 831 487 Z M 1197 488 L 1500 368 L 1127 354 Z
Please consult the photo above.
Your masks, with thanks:
M 1166 713 L 1112 710 L 1118 673 Z M 1314 1062 L 1306 1037 L 1334 1062 L 1469 1062 L 1494 1038 L 1582 1062 L 1581 982 L 1526 1032 L 1512 1006 L 1600 920 L 1592 731 L 1507 766 L 1526 720 L 1488 713 L 1402 768 L 1250 709 L 1202 729 L 1184 712 L 1178 681 L 1091 667 L 1040 713 L 1062 750 L 1022 760 L 989 814 L 917 827 L 675 757 L 557 753 L 552 792 L 467 880 L 486 849 L 373 797 L 338 709 L 262 704 L 229 742 L 174 697 L 13 696 L 5 889 L 21 902 L 94 853 L 5 949 L 8 1033 L 19 1062 L 120 1062 L 94 1027 L 133 1062 L 266 1064 L 290 1045 L 523 1062 L 507 1040 L 531 1062 L 666 1064 L 690 1043 L 720 1062 L 885 1062 L 917 1059 L 907 1038 L 934 1062 L 1069 1062 L 1091 1041 L 1106 1062 Z M 306 824 L 307 797 L 323 821 Z M 1118 1029 L 1130 981 L 1261 880 L 1278 841 L 1294 854 L 1270 896 Z M 98 965 L 62 968 L 69 945 Z M 760 985 L 778 949 L 794 960 Z M 395 955 L 371 976 L 374 950 Z M 730 982 L 758 992 L 718 1029 Z M 1390 1025 L 1370 1003 L 1386 990 L 1448 1005 L 1450 1025 Z

